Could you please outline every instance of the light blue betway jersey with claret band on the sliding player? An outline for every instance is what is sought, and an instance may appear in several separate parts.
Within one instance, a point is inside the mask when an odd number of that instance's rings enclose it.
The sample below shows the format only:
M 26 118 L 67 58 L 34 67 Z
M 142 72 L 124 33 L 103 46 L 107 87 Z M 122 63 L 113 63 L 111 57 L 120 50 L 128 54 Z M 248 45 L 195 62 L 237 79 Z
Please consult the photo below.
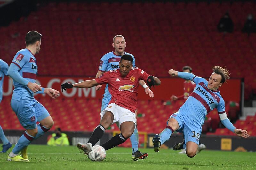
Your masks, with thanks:
M 225 113 L 225 102 L 220 95 L 220 91 L 212 91 L 207 88 L 208 81 L 204 78 L 195 76 L 192 73 L 178 72 L 178 76 L 190 79 L 196 83 L 196 87 L 188 100 L 180 107 L 178 112 L 187 115 L 195 122 L 204 124 L 206 115 L 217 108 L 219 114 Z

